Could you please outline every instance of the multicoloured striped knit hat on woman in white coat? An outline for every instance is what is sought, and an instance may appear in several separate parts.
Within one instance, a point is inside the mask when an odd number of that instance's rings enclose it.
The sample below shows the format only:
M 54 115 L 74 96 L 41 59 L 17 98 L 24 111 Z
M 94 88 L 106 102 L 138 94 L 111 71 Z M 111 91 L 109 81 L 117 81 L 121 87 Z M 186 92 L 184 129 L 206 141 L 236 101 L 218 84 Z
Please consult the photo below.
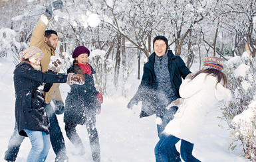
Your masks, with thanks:
M 203 68 L 202 69 L 217 69 L 219 71 L 223 70 L 223 63 L 219 58 L 216 57 L 206 57 L 203 59 Z

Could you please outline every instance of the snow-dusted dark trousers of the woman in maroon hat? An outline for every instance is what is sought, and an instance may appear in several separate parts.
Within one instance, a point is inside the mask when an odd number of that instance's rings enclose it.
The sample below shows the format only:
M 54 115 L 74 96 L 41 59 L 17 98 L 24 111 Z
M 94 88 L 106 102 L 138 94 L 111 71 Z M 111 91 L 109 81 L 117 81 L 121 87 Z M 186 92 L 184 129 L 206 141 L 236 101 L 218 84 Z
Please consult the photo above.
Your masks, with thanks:
M 92 159 L 94 162 L 100 162 L 100 143 L 98 141 L 98 132 L 95 126 L 96 119 L 86 120 L 86 129 L 88 132 L 89 140 L 90 140 L 90 149 L 92 150 Z M 72 142 L 72 144 L 79 151 L 78 155 L 84 155 L 84 145 L 82 144 L 82 140 L 76 133 L 77 124 L 72 124 L 66 122 L 65 130 L 66 136 Z

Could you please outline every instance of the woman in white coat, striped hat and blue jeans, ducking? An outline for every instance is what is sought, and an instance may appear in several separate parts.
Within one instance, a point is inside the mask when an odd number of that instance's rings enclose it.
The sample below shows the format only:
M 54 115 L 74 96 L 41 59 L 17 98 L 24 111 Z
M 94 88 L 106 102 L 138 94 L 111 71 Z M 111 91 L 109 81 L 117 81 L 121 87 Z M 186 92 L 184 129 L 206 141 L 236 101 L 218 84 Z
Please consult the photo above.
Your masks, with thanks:
M 193 143 L 202 128 L 205 115 L 218 101 L 231 99 L 227 89 L 227 77 L 222 72 L 223 63 L 219 58 L 207 57 L 203 68 L 194 76 L 188 75 L 180 86 L 180 96 L 172 102 L 179 109 L 166 126 L 162 138 L 156 144 L 156 162 L 168 161 L 173 155 L 170 147 L 181 142 L 181 155 L 184 161 L 199 161 L 192 155 Z M 168 106 L 169 107 L 169 106 Z

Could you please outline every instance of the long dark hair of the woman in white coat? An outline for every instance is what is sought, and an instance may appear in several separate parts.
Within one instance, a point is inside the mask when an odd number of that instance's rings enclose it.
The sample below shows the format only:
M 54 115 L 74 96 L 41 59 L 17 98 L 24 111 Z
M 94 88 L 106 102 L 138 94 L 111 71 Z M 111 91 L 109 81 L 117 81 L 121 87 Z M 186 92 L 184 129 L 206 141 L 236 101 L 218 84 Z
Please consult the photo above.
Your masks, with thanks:
M 195 73 L 193 77 L 196 77 L 197 75 L 199 75 L 199 73 L 207 73 L 207 75 L 212 75 L 213 77 L 217 77 L 217 83 L 221 83 L 221 85 L 227 88 L 227 77 L 225 73 L 223 73 L 222 71 L 213 69 L 213 68 L 201 69 L 200 71 Z

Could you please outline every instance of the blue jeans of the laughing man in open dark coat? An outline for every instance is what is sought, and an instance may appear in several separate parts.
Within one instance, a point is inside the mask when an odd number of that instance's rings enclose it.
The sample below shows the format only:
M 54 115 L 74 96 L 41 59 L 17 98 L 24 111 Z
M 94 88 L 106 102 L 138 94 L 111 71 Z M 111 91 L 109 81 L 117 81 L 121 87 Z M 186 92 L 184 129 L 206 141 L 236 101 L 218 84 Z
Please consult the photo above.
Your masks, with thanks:
M 164 109 L 164 113 L 162 115 L 157 115 L 158 117 L 160 117 L 162 119 L 162 124 L 161 125 L 157 125 L 158 128 L 158 137 L 161 139 L 162 137 L 162 132 L 164 131 L 164 128 L 166 128 L 166 125 L 168 124 L 168 122 L 170 122 L 173 118 L 174 118 L 174 114 L 177 111 L 177 107 L 171 107 L 169 110 Z M 180 159 L 180 153 L 177 151 L 176 146 L 173 145 L 173 147 L 169 148 L 170 153 L 172 153 L 173 155 L 168 157 L 168 161 L 174 161 L 174 162 L 180 162 L 182 161 Z

